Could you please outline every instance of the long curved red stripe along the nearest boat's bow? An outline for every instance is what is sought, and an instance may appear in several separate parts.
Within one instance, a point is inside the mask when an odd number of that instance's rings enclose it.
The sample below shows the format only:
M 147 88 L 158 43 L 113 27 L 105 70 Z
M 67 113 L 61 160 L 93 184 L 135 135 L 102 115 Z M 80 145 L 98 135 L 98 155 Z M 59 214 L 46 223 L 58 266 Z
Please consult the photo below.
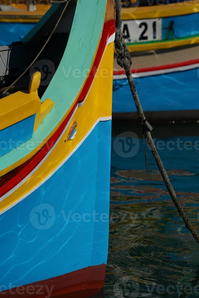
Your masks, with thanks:
M 11 180 L 9 180 L 6 184 L 4 184 L 0 188 L 0 197 L 4 196 L 7 192 L 9 192 L 11 189 L 13 189 L 19 182 L 21 182 L 24 178 L 26 178 L 27 175 L 30 174 L 30 172 L 33 171 L 33 169 L 42 161 L 42 159 L 46 156 L 46 154 L 51 150 L 51 148 L 54 146 L 58 138 L 60 137 L 61 133 L 65 129 L 65 126 L 67 125 L 68 121 L 70 120 L 73 112 L 75 111 L 75 108 L 77 107 L 78 103 L 83 102 L 86 98 L 86 95 L 89 92 L 89 88 L 92 85 L 93 79 L 96 75 L 96 71 L 99 68 L 100 61 L 103 57 L 104 50 L 106 48 L 107 41 L 111 35 L 113 35 L 115 32 L 115 20 L 110 20 L 104 24 L 102 37 L 100 40 L 100 44 L 97 50 L 97 54 L 93 63 L 93 67 L 89 73 L 89 76 L 84 84 L 84 87 L 82 88 L 82 92 L 79 95 L 79 98 L 75 102 L 74 106 L 72 107 L 71 111 L 65 118 L 65 120 L 62 122 L 62 124 L 59 126 L 58 130 L 53 134 L 53 136 L 47 141 L 47 143 L 44 145 L 44 147 L 38 151 L 38 153 L 30 160 L 28 165 L 25 165 L 23 169 L 15 175 Z

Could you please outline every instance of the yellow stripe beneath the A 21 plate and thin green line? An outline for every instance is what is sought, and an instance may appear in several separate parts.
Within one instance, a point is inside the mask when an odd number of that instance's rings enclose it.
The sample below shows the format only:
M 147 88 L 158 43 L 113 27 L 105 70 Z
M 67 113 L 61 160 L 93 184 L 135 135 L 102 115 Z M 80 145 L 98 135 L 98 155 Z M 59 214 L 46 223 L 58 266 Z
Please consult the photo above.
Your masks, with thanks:
M 169 40 L 169 41 L 162 41 L 162 42 L 152 42 L 152 43 L 145 43 L 145 44 L 132 44 L 128 45 L 128 49 L 130 52 L 141 52 L 141 51 L 148 51 L 148 50 L 161 50 L 161 49 L 169 49 L 173 47 L 181 47 L 186 46 L 194 43 L 199 43 L 199 36 L 194 38 L 187 38 L 182 40 Z M 116 50 L 114 50 L 116 53 Z

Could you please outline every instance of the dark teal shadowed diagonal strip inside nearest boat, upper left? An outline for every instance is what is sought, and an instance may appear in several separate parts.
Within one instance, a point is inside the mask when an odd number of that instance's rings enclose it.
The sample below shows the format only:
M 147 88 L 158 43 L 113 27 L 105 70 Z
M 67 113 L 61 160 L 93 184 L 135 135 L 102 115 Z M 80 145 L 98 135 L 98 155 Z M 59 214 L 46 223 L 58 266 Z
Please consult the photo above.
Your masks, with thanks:
M 22 42 L 26 44 L 47 22 L 48 19 L 54 14 L 54 12 L 58 9 L 60 4 L 54 3 L 51 8 L 45 13 L 45 15 L 39 20 L 39 22 L 31 29 L 26 36 L 23 37 Z

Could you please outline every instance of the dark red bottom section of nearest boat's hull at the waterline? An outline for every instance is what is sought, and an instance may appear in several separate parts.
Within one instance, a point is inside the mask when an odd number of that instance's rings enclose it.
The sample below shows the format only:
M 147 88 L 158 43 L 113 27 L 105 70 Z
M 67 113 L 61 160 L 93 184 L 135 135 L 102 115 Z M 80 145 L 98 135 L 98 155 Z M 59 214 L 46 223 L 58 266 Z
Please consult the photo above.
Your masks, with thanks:
M 106 273 L 106 265 L 89 266 L 58 277 L 33 282 L 22 287 L 0 292 L 0 296 L 5 298 L 15 297 L 46 297 L 47 289 L 52 289 L 51 297 L 72 298 L 91 297 L 103 288 Z M 85 292 L 86 290 L 86 292 Z M 89 291 L 88 291 L 89 290 Z M 41 293 L 43 292 L 43 293 Z M 77 295 L 78 292 L 78 295 Z M 85 295 L 86 294 L 86 295 Z M 89 295 L 88 295 L 89 294 Z

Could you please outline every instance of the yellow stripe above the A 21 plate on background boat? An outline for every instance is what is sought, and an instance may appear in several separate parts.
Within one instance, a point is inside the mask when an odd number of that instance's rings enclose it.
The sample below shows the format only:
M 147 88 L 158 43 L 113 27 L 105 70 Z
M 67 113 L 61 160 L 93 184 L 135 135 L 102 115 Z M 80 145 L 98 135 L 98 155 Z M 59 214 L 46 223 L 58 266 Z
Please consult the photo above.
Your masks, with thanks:
M 169 16 L 182 16 L 199 12 L 199 3 L 185 1 L 167 5 L 129 7 L 122 9 L 122 19 L 153 19 Z

